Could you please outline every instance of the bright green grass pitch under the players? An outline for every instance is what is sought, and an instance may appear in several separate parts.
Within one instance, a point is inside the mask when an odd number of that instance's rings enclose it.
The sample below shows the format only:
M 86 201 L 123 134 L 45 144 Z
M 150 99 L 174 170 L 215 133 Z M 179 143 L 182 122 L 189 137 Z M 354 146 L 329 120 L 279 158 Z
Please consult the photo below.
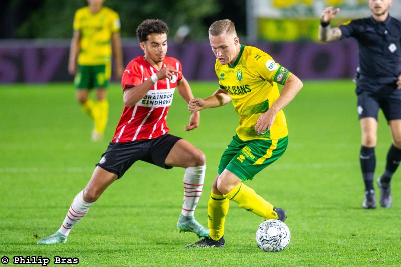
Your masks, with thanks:
M 212 94 L 216 82 L 191 82 L 195 96 Z M 363 210 L 359 168 L 360 128 L 354 84 L 307 81 L 284 111 L 286 153 L 247 182 L 288 212 L 291 243 L 281 253 L 262 252 L 255 232 L 261 218 L 230 203 L 223 249 L 188 250 L 197 240 L 179 234 L 184 170 L 137 162 L 112 184 L 72 230 L 68 242 L 39 246 L 61 225 L 74 196 L 87 184 L 120 117 L 119 84 L 109 89 L 105 140 L 90 142 L 91 120 L 75 101 L 72 84 L 2 85 L 0 88 L 0 256 L 78 257 L 82 266 L 342 266 L 397 265 L 401 236 L 401 179 L 394 175 L 393 207 Z M 238 125 L 231 103 L 202 111 L 200 127 L 184 132 L 186 103 L 175 94 L 168 115 L 172 134 L 207 157 L 206 208 L 220 156 Z M 391 143 L 380 113 L 376 177 Z M 378 190 L 376 190 L 378 200 Z

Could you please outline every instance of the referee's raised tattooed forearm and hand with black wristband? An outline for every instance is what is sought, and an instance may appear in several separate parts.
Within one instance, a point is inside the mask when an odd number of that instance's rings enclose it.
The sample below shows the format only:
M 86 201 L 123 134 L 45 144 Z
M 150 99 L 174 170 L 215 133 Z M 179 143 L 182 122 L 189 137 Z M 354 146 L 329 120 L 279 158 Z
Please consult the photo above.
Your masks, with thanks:
M 330 20 L 340 11 L 339 8 L 327 7 L 320 16 L 319 40 L 323 42 L 341 39 L 340 28 L 330 28 Z

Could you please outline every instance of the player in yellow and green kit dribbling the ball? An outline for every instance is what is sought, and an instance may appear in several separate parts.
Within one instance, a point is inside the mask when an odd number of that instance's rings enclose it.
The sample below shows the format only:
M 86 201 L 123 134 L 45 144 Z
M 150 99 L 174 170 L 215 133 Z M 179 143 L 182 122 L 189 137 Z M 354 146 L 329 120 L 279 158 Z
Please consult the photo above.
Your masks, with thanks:
M 208 201 L 209 236 L 187 246 L 223 247 L 224 223 L 230 200 L 264 220 L 284 221 L 286 212 L 274 207 L 243 182 L 276 161 L 286 150 L 288 130 L 283 108 L 302 88 L 299 78 L 267 53 L 241 45 L 234 23 L 228 19 L 209 27 L 209 40 L 217 57 L 218 89 L 205 99 L 189 102 L 191 113 L 233 102 L 240 115 L 236 135 L 220 160 Z M 281 94 L 277 83 L 283 84 Z

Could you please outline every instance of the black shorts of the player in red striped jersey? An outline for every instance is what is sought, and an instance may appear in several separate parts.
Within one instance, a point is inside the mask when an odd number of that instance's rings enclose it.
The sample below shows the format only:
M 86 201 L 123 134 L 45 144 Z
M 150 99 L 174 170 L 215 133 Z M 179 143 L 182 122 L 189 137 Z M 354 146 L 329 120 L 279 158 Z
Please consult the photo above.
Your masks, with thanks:
M 96 166 L 116 174 L 118 179 L 138 160 L 170 169 L 172 167 L 166 166 L 164 162 L 179 140 L 181 138 L 177 136 L 164 134 L 156 139 L 110 143 Z

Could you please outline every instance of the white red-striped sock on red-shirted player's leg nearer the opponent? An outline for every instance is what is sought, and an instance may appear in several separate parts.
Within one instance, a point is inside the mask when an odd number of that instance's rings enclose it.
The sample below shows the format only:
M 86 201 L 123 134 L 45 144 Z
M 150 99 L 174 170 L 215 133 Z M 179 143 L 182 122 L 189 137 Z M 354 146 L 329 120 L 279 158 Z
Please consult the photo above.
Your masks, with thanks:
M 197 202 L 202 194 L 205 180 L 206 165 L 189 167 L 184 175 L 184 201 L 182 204 L 182 215 L 193 216 Z

